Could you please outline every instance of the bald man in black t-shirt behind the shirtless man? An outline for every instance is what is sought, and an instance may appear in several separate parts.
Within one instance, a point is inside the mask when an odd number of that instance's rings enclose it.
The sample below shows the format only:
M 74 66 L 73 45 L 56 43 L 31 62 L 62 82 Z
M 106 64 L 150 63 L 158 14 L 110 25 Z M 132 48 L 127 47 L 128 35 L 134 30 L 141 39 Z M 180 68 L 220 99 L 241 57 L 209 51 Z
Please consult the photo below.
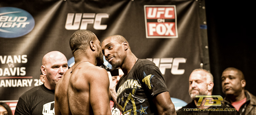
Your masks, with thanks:
M 59 51 L 44 55 L 41 71 L 44 84 L 34 87 L 19 98 L 15 115 L 54 115 L 54 89 L 57 82 L 68 70 L 68 61 Z

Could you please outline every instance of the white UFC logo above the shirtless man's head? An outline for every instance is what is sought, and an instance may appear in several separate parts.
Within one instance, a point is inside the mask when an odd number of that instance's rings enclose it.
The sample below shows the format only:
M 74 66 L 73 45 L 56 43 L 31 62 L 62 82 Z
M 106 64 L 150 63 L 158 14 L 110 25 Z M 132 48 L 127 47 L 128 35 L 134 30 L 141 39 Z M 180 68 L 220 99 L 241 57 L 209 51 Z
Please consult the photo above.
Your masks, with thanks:
M 93 24 L 95 30 L 106 30 L 107 25 L 101 25 L 101 20 L 108 17 L 107 13 L 68 13 L 65 28 L 67 30 L 86 30 L 88 24 Z

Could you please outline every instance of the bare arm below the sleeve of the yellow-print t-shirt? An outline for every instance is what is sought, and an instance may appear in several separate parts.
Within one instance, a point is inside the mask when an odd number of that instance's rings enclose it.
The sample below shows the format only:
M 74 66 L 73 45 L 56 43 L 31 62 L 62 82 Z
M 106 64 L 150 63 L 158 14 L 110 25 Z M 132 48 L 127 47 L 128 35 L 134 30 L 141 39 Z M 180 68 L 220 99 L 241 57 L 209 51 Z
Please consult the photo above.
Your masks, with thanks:
M 156 109 L 159 115 L 176 115 L 174 105 L 172 103 L 172 100 L 168 91 L 157 94 L 153 98 L 153 102 L 156 105 Z

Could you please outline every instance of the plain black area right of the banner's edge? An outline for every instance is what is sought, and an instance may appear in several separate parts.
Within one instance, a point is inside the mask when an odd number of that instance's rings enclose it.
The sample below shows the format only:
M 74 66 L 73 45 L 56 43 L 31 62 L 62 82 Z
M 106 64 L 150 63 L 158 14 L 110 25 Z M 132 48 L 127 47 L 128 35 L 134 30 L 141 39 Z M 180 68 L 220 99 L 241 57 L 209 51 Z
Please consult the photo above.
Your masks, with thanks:
M 213 94 L 224 96 L 221 73 L 228 67 L 235 67 L 244 73 L 245 89 L 256 95 L 254 3 L 206 0 L 205 7 Z

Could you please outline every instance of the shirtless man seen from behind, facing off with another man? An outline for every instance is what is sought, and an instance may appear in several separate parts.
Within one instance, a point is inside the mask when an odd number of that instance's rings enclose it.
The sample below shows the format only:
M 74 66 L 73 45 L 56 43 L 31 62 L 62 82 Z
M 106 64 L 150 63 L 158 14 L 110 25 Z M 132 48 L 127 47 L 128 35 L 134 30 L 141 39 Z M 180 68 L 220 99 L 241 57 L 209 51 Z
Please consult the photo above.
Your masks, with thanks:
M 55 115 L 111 115 L 109 79 L 100 41 L 89 30 L 77 30 L 70 38 L 75 64 L 55 88 Z

